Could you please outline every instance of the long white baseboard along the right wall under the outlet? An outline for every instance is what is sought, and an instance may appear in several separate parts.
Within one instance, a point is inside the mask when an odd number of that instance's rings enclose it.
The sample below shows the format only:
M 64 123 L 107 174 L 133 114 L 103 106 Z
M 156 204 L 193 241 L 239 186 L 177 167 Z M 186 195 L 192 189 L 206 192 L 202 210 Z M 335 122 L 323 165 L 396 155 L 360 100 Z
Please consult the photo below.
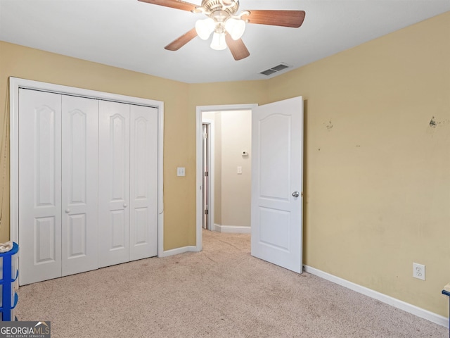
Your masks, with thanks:
M 330 282 L 339 284 L 342 287 L 347 287 L 347 289 L 351 289 L 353 291 L 359 292 L 360 294 L 364 294 L 365 296 L 369 296 L 373 299 L 377 299 L 378 301 L 382 301 L 383 303 L 387 303 L 390 306 L 394 306 L 394 308 L 399 308 L 403 311 L 412 313 L 413 315 L 417 315 L 420 318 L 430 320 L 430 322 L 432 323 L 436 323 L 444 327 L 449 327 L 449 318 L 446 318 L 442 315 L 432 313 L 431 311 L 419 308 L 418 306 L 406 303 L 404 301 L 400 301 L 399 299 L 395 299 L 391 296 L 387 296 L 372 289 L 368 289 L 367 287 L 362 287 L 359 284 L 355 284 L 353 282 L 349 282 L 348 280 L 344 280 L 340 277 L 330 275 L 329 273 L 325 273 L 316 268 L 311 268 L 311 266 L 303 265 L 303 267 L 304 272 L 306 273 L 311 273 L 311 275 L 316 275 L 317 277 L 321 277 L 324 280 L 329 280 Z

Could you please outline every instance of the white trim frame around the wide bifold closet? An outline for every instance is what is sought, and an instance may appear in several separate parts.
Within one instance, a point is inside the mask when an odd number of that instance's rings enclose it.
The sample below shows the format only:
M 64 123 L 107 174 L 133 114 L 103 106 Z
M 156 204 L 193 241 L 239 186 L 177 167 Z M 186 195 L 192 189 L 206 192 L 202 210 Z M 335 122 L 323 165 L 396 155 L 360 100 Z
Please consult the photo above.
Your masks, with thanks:
M 143 99 L 134 96 L 98 92 L 91 89 L 68 87 L 60 84 L 51 84 L 34 80 L 25 80 L 18 77 L 9 78 L 9 147 L 10 147 L 10 226 L 9 237 L 13 242 L 19 243 L 19 89 L 34 89 L 41 92 L 53 92 L 72 96 L 82 96 L 89 99 L 115 101 L 124 104 L 136 104 L 158 108 L 158 257 L 164 256 L 164 189 L 163 189 L 163 150 L 164 150 L 164 102 Z

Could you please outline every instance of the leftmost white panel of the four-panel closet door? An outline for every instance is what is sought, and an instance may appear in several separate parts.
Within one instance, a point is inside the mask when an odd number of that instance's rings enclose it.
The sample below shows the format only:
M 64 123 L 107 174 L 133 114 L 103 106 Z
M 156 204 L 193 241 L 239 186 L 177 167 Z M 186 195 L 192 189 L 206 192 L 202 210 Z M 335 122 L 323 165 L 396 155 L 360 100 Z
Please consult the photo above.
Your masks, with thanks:
M 19 92 L 20 284 L 61 276 L 61 96 Z

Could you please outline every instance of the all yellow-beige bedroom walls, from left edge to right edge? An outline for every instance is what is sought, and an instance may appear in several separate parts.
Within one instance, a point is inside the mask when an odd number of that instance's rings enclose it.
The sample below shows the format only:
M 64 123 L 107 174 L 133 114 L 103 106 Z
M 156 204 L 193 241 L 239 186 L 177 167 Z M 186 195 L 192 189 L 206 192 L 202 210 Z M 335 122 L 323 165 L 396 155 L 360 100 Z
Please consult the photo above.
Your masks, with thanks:
M 8 76 L 165 101 L 166 250 L 195 244 L 195 107 L 304 96 L 304 263 L 448 315 L 450 13 L 266 81 L 183 84 L 2 42 L 0 53 L 0 121 Z

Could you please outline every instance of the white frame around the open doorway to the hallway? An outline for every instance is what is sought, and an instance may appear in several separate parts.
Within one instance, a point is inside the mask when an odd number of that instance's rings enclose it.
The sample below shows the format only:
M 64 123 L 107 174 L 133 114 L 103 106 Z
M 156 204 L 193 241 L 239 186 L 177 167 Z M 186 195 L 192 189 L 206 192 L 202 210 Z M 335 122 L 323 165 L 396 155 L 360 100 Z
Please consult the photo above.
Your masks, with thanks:
M 202 251 L 203 249 L 203 239 L 202 239 L 202 217 L 203 217 L 203 203 L 202 203 L 202 185 L 203 185 L 203 119 L 202 115 L 205 112 L 210 111 L 252 111 L 253 108 L 257 107 L 258 104 L 226 104 L 217 106 L 197 106 L 196 113 L 196 147 L 195 147 L 195 157 L 196 157 L 196 169 L 195 169 L 195 251 Z M 212 182 L 212 179 L 211 179 Z M 212 183 L 214 185 L 214 183 Z M 214 208 L 214 206 L 212 206 Z M 214 218 L 212 219 L 212 224 L 214 224 Z

